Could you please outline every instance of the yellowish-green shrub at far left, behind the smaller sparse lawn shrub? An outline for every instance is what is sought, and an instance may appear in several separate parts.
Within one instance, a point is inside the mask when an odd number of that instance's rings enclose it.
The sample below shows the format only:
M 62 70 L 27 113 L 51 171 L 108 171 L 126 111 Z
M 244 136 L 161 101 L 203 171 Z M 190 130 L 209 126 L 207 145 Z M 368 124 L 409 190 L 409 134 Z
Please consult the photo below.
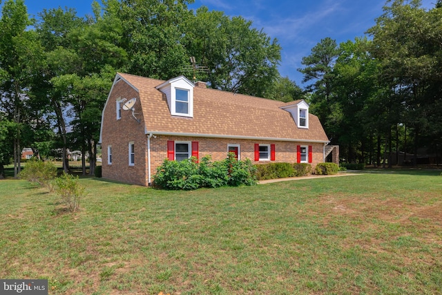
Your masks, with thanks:
M 57 176 L 57 167 L 51 161 L 44 162 L 37 160 L 37 158 L 31 158 L 26 162 L 26 166 L 23 167 L 19 176 L 24 180 L 39 184 L 41 187 L 48 187 L 52 191 L 50 182 Z

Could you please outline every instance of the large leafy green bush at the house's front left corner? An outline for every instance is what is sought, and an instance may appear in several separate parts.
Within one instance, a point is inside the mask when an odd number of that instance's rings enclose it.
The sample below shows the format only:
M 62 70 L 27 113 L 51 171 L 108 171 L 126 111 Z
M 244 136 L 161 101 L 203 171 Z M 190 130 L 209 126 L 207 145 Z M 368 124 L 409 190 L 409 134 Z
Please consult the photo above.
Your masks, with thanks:
M 210 156 L 200 163 L 195 158 L 180 162 L 164 160 L 153 176 L 153 185 L 162 189 L 253 185 L 254 169 L 250 160 L 238 161 L 233 153 L 226 160 L 215 162 L 211 162 Z

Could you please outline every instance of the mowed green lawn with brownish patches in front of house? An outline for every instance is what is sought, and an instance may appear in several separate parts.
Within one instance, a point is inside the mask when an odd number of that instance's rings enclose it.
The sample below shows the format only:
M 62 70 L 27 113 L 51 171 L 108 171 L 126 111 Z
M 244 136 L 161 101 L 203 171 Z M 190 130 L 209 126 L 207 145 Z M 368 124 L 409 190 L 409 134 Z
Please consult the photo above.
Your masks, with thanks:
M 158 191 L 81 179 L 81 211 L 0 180 L 0 278 L 50 294 L 440 294 L 440 171 Z

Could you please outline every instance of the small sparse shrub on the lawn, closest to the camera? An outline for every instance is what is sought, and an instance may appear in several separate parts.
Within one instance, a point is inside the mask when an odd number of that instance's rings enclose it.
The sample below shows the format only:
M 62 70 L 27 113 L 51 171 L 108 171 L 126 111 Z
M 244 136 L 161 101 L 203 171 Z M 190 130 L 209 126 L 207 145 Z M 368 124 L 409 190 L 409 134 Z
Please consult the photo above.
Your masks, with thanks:
M 54 180 L 54 191 L 61 197 L 69 211 L 75 212 L 79 209 L 81 198 L 84 196 L 84 187 L 78 183 L 78 176 L 63 173 Z

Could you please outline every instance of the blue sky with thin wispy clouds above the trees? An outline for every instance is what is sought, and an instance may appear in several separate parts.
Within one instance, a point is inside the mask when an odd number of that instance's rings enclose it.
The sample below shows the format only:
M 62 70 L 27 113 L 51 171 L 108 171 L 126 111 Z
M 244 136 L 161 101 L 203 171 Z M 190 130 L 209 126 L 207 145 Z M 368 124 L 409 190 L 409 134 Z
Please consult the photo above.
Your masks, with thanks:
M 43 8 L 69 7 L 77 15 L 91 13 L 93 0 L 25 0 L 30 15 Z M 423 0 L 423 8 L 433 8 L 436 0 Z M 190 8 L 207 6 L 225 15 L 242 16 L 253 21 L 269 37 L 278 39 L 282 47 L 280 73 L 299 86 L 302 74 L 300 61 L 311 53 L 320 39 L 330 37 L 338 44 L 363 37 L 375 24 L 385 5 L 384 0 L 195 0 Z

